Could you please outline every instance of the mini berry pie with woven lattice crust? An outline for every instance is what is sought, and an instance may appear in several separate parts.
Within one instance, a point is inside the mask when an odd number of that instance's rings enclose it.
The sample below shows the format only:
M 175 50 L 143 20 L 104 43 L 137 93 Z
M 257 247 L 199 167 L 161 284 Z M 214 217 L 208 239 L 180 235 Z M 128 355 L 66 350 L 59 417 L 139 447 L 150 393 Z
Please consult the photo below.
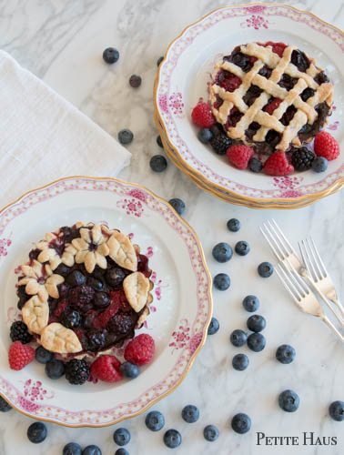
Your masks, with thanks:
M 271 154 L 301 147 L 331 112 L 333 85 L 315 60 L 293 45 L 237 46 L 216 66 L 213 115 L 231 139 Z

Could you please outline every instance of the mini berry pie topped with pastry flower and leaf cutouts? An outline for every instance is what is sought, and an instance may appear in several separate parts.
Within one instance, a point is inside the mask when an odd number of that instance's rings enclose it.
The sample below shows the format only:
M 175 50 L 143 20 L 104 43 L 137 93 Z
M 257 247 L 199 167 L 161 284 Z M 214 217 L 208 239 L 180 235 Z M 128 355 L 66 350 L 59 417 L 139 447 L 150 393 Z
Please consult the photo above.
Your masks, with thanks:
M 15 323 L 11 338 L 30 341 L 26 326 L 37 343 L 65 359 L 95 359 L 122 346 L 142 327 L 153 300 L 147 256 L 105 225 L 78 222 L 46 234 L 20 270 L 23 322 Z

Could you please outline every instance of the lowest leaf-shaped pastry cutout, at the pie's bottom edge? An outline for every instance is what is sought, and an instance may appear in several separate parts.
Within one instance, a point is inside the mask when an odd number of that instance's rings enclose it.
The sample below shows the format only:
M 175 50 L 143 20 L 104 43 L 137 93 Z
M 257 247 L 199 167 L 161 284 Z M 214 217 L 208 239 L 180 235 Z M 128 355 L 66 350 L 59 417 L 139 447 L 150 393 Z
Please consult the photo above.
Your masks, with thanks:
M 43 348 L 58 354 L 72 354 L 83 349 L 76 333 L 59 322 L 53 322 L 42 330 L 41 344 Z

